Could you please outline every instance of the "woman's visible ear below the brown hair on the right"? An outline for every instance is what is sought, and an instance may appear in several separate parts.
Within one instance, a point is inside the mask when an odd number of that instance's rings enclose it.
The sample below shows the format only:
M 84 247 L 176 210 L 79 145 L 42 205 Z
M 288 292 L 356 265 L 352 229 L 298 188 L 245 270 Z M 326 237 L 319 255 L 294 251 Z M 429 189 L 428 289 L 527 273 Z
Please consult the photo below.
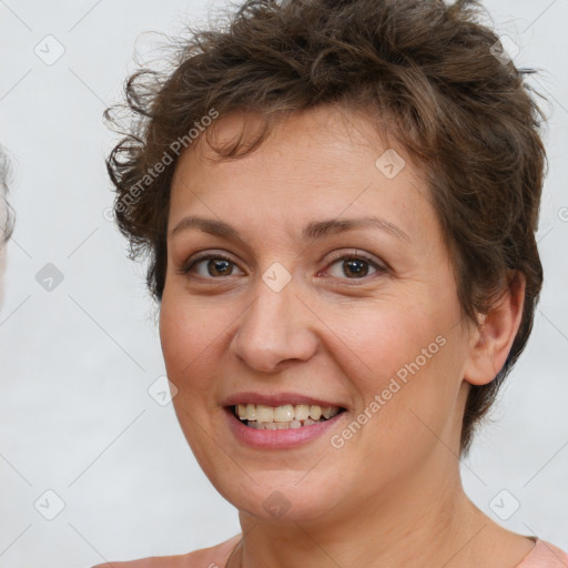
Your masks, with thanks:
M 490 383 L 505 365 L 523 318 L 526 278 L 515 271 L 503 297 L 474 327 L 464 379 L 471 385 Z

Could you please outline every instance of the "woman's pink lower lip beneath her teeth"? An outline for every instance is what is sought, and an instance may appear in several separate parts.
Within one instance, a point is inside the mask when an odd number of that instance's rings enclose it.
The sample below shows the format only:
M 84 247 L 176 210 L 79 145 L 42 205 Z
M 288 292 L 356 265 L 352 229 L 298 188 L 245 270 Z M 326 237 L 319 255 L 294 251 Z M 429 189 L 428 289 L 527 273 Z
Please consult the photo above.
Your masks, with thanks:
M 328 420 L 283 430 L 258 430 L 251 428 L 251 426 L 245 426 L 234 415 L 232 407 L 225 408 L 225 414 L 229 418 L 229 426 L 239 442 L 254 448 L 282 449 L 297 447 L 322 436 L 329 428 L 333 428 L 337 422 L 342 420 L 347 413 L 343 410 Z

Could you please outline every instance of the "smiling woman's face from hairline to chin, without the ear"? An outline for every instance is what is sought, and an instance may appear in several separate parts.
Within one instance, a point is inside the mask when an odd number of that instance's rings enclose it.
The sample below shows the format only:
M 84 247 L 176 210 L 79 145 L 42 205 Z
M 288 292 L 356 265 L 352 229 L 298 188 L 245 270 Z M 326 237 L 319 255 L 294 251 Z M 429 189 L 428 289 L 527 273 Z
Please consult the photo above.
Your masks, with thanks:
M 338 518 L 457 473 L 474 334 L 425 183 L 386 151 L 321 106 L 245 158 L 206 160 L 203 139 L 176 166 L 160 317 L 175 412 L 216 489 L 257 517 Z M 343 412 L 290 428 L 302 402 Z M 236 403 L 284 406 L 288 428 L 245 425 Z

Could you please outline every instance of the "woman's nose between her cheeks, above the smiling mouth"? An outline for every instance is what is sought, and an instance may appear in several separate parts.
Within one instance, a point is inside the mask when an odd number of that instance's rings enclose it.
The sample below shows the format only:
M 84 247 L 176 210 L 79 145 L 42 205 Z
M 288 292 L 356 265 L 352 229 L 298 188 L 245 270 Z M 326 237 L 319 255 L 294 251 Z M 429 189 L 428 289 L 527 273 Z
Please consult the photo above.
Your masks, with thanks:
M 233 335 L 232 353 L 251 368 L 265 373 L 293 361 L 308 361 L 317 349 L 314 317 L 293 281 L 275 292 L 260 280 L 255 292 Z

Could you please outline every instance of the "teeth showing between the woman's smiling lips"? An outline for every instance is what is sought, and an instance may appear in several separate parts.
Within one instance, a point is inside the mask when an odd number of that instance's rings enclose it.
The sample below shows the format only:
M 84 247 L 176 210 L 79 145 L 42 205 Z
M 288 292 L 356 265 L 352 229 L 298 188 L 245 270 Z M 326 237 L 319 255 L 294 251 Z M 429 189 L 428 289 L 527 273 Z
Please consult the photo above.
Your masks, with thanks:
M 245 426 L 255 429 L 282 430 L 304 428 L 327 422 L 345 412 L 341 406 L 316 406 L 307 404 L 286 404 L 266 406 L 262 404 L 236 404 L 231 406 L 233 415 Z

